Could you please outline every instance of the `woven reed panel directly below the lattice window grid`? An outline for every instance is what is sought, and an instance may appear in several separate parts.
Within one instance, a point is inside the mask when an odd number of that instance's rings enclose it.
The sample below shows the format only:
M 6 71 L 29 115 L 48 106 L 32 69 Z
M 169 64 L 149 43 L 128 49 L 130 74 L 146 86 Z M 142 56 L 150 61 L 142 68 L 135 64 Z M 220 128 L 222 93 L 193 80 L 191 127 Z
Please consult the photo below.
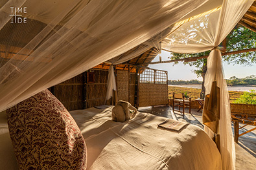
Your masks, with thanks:
M 139 83 L 139 107 L 168 103 L 167 84 Z

